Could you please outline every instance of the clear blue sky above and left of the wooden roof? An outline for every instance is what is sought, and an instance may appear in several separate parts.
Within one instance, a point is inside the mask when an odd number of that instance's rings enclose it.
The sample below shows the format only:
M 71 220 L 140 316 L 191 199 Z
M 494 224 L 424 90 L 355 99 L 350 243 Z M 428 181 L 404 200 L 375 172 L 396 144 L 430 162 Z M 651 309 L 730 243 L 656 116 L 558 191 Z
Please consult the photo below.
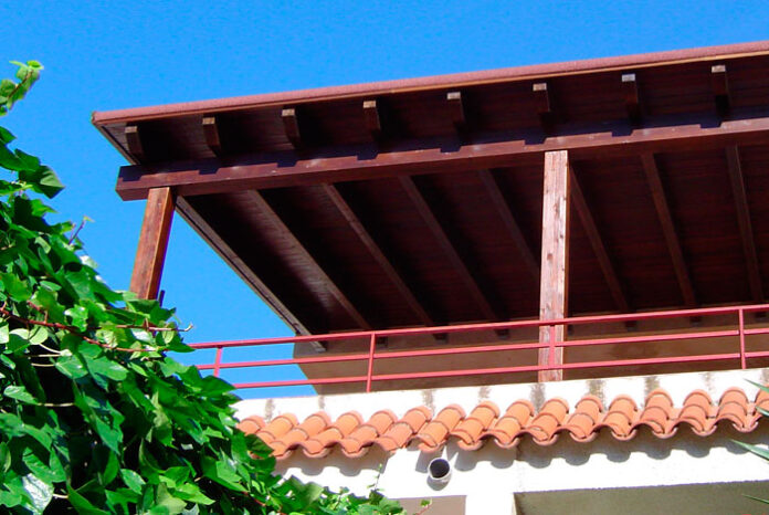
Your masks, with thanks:
M 87 253 L 125 288 L 144 202 L 115 193 L 125 161 L 93 111 L 757 41 L 767 13 L 704 0 L 3 2 L 0 63 L 34 59 L 45 72 L 2 124 L 66 183 L 60 213 L 95 220 L 81 233 Z M 162 288 L 196 326 L 188 341 L 288 334 L 181 219 Z

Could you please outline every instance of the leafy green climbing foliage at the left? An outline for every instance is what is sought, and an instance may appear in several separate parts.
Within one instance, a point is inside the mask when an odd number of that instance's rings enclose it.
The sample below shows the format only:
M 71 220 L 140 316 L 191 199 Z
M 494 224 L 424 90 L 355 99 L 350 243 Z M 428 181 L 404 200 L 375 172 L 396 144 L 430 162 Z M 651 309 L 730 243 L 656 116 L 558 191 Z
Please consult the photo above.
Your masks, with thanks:
M 40 76 L 14 63 L 0 116 Z M 273 473 L 235 428 L 233 387 L 166 353 L 190 351 L 173 311 L 110 290 L 72 223 L 49 223 L 61 189 L 0 127 L 0 511 L 11 513 L 401 513 L 373 491 L 333 493 Z

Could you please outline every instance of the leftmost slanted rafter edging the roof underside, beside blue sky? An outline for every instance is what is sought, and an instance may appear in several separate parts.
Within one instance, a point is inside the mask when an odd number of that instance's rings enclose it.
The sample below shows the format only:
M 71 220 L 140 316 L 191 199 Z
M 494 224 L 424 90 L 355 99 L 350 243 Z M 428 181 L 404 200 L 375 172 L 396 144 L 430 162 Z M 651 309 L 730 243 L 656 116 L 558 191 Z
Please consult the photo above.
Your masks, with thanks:
M 217 254 L 256 293 L 297 335 L 309 335 L 312 332 L 299 320 L 275 293 L 254 273 L 219 233 L 203 219 L 185 197 L 177 197 L 177 210 L 181 218 L 214 250 Z M 313 347 L 325 350 L 320 343 Z

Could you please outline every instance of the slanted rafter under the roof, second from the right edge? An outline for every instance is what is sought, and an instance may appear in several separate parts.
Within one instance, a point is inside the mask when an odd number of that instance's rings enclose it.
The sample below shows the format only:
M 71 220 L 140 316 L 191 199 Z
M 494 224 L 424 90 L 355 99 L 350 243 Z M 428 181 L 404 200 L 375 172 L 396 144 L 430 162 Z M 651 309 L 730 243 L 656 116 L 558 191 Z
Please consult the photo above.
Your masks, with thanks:
M 643 171 L 646 175 L 646 182 L 649 183 L 652 200 L 654 201 L 654 209 L 656 210 L 657 219 L 660 220 L 660 225 L 662 225 L 662 232 L 667 243 L 667 251 L 673 261 L 673 270 L 678 280 L 681 294 L 684 298 L 684 306 L 696 307 L 697 297 L 692 286 L 692 278 L 689 276 L 688 266 L 686 266 L 684 252 L 681 248 L 681 240 L 675 230 L 675 223 L 673 223 L 673 216 L 671 214 L 667 198 L 665 197 L 665 189 L 662 186 L 662 180 L 660 180 L 660 170 L 656 159 L 653 154 L 643 154 L 641 156 L 641 161 L 643 162 Z

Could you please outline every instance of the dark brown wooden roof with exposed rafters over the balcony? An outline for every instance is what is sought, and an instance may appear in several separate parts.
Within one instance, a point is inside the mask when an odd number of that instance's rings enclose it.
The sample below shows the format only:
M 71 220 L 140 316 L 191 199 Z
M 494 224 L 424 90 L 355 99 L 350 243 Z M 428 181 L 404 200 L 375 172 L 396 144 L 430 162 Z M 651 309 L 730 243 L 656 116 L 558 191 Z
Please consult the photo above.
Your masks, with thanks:
M 297 333 L 536 317 L 568 150 L 569 313 L 765 301 L 769 42 L 94 113 Z M 170 206 L 168 203 L 166 207 Z

